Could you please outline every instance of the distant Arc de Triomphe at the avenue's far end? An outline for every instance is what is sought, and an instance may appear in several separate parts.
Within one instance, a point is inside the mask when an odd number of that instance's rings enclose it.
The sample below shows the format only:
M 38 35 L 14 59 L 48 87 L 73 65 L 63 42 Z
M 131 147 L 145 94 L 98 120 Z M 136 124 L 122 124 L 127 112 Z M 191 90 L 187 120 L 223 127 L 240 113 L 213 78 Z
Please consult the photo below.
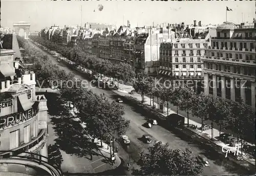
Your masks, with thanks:
M 30 35 L 30 23 L 25 21 L 13 23 L 13 33 L 27 39 Z

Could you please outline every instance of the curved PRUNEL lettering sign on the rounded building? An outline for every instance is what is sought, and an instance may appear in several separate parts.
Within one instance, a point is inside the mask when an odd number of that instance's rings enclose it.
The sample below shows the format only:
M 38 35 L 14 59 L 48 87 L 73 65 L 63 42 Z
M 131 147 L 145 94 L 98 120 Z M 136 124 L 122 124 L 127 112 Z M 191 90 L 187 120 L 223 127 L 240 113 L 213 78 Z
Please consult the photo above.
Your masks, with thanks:
M 25 122 L 35 116 L 38 112 L 38 106 L 35 106 L 27 111 L 11 114 L 10 116 L 1 117 L 0 128 L 8 127 L 10 125 L 18 124 L 19 122 Z

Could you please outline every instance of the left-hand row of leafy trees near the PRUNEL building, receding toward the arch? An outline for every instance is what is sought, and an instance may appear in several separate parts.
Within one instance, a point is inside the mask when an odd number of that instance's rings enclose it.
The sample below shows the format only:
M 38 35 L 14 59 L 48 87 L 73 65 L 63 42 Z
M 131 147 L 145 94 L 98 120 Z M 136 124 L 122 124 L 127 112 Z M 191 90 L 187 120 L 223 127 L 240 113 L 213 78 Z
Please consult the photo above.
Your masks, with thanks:
M 63 120 L 62 122 L 66 122 L 66 124 L 61 123 L 62 127 L 59 129 L 62 130 L 57 132 L 59 136 L 63 136 L 63 133 L 65 133 L 63 137 L 69 140 L 67 143 L 76 141 L 76 147 L 80 148 L 80 153 L 76 153 L 77 155 L 87 155 L 87 153 L 82 153 L 84 141 L 88 138 L 83 134 L 88 134 L 93 139 L 101 139 L 106 143 L 110 143 L 110 140 L 125 134 L 130 121 L 122 117 L 124 109 L 121 105 L 116 102 L 109 102 L 108 99 L 83 88 L 81 81 L 75 79 L 74 74 L 60 70 L 56 65 L 53 65 L 47 55 L 42 54 L 27 40 L 18 37 L 18 43 L 19 47 L 25 49 L 27 56 L 35 57 L 33 70 L 37 73 L 39 79 L 41 78 L 47 82 L 51 80 L 63 81 L 61 88 L 58 87 L 62 102 L 73 104 L 74 108 L 77 109 L 76 116 L 81 123 L 86 124 L 86 129 L 83 129 L 77 127 L 73 120 Z M 69 82 L 67 82 L 68 80 Z M 70 125 L 70 122 L 73 122 L 74 125 Z

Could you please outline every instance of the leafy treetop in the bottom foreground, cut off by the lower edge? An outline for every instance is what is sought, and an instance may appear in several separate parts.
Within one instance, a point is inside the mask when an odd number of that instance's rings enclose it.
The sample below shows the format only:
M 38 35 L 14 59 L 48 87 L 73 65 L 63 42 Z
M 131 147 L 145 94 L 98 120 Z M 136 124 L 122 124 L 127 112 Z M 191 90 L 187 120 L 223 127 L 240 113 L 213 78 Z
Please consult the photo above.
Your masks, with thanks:
M 203 165 L 197 162 L 190 149 L 170 149 L 169 144 L 155 143 L 148 153 L 140 153 L 141 168 L 136 175 L 198 175 Z

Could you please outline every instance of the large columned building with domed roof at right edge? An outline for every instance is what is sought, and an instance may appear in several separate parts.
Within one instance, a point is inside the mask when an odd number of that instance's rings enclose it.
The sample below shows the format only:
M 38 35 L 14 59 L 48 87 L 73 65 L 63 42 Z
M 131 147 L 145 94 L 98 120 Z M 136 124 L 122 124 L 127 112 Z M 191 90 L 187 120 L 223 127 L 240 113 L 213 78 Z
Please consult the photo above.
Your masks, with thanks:
M 255 26 L 224 22 L 216 28 L 204 62 L 205 94 L 238 100 L 255 110 Z

